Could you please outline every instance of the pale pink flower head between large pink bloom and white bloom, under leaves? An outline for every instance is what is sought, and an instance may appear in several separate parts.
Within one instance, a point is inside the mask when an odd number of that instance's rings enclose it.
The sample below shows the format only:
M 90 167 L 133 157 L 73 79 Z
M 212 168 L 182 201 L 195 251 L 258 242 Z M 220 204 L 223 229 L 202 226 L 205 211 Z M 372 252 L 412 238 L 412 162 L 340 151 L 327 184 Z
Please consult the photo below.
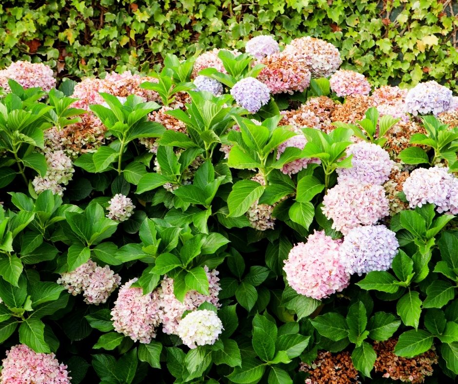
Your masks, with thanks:
M 197 309 L 202 303 L 209 302 L 214 306 L 218 304 L 218 292 L 221 290 L 219 286 L 218 271 L 213 269 L 209 271 L 204 267 L 207 278 L 209 280 L 210 295 L 206 296 L 195 290 L 189 291 L 183 302 L 180 302 L 173 293 L 173 279 L 164 276 L 161 286 L 156 290 L 157 296 L 161 300 L 161 311 L 159 313 L 162 321 L 162 331 L 167 334 L 176 334 L 178 325 L 180 324 L 183 313 L 187 310 Z

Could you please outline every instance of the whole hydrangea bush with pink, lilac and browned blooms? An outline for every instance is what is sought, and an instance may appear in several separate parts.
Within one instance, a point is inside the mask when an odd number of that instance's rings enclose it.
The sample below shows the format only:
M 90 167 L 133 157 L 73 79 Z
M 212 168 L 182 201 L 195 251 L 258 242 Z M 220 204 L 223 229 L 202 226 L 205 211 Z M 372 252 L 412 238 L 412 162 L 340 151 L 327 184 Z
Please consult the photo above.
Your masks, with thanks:
M 1 70 L 0 383 L 452 382 L 456 96 L 341 63 Z

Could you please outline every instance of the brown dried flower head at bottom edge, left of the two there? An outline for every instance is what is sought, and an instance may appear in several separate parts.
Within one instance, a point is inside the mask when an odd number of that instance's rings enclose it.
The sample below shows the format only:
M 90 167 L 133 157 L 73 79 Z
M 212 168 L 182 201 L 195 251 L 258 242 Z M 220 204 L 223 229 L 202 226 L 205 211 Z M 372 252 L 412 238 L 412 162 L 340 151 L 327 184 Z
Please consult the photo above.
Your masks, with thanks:
M 318 352 L 318 357 L 311 365 L 301 363 L 299 370 L 310 375 L 305 379 L 306 384 L 361 383 L 348 352 Z

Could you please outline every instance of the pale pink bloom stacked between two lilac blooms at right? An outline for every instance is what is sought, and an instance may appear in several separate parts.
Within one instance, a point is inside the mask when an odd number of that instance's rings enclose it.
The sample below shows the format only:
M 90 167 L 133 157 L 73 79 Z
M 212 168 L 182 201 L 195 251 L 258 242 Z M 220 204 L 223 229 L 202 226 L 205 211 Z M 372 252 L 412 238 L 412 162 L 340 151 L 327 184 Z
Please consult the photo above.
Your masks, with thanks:
M 323 197 L 323 212 L 332 228 L 344 235 L 362 225 L 376 224 L 389 214 L 389 200 L 381 185 L 359 181 L 339 183 Z

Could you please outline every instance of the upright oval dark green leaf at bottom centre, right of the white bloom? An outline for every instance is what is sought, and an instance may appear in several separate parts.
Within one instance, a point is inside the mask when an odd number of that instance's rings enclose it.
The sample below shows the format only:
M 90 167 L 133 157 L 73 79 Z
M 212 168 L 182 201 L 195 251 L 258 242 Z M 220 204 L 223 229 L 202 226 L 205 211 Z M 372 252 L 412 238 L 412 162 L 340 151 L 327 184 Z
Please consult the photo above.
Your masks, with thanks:
M 256 314 L 253 318 L 253 338 L 251 343 L 261 360 L 273 359 L 277 340 L 277 326 L 265 316 Z

